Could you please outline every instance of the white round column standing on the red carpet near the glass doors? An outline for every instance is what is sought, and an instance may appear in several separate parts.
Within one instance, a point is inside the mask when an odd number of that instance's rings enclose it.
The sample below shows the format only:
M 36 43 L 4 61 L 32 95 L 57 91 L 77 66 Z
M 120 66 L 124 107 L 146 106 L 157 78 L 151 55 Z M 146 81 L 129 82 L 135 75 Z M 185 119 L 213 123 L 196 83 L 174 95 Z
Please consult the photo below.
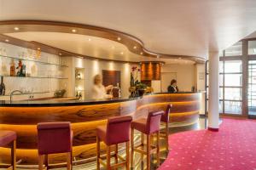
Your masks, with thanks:
M 218 131 L 218 51 L 209 52 L 208 130 Z

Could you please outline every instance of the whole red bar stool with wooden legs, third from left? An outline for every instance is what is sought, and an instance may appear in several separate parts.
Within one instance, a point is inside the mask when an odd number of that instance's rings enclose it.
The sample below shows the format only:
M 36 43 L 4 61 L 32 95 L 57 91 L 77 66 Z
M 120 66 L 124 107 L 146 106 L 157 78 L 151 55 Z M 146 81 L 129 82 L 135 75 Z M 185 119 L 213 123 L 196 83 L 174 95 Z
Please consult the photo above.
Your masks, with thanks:
M 130 127 L 131 116 L 117 116 L 108 119 L 107 126 L 101 126 L 96 128 L 96 155 L 97 155 L 97 170 L 100 169 L 102 164 L 107 169 L 117 169 L 118 167 L 125 166 L 126 169 L 130 169 Z M 103 141 L 107 145 L 107 163 L 103 161 L 101 157 L 100 142 Z M 125 143 L 126 145 L 126 159 L 118 154 L 118 144 Z M 115 164 L 110 165 L 110 147 L 115 145 L 114 158 Z M 118 158 L 122 162 L 118 162 Z

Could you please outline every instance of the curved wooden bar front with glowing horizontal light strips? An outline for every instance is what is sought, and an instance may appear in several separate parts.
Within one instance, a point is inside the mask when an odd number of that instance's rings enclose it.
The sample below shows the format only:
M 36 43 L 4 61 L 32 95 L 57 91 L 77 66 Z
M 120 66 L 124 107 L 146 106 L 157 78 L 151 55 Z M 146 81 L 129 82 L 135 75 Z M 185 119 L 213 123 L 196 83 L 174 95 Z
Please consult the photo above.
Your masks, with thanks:
M 17 160 L 22 160 L 21 164 L 38 164 L 37 123 L 71 122 L 73 156 L 84 160 L 96 156 L 96 127 L 105 124 L 108 117 L 131 115 L 137 119 L 146 117 L 150 111 L 165 111 L 166 105 L 171 103 L 171 126 L 184 126 L 197 122 L 200 99 L 201 93 L 186 93 L 152 94 L 141 99 L 117 99 L 105 103 L 2 104 L 0 129 L 13 130 L 18 134 Z M 65 156 L 49 156 L 49 163 L 60 163 Z M 0 157 L 0 162 L 9 161 L 9 149 L 0 148 Z

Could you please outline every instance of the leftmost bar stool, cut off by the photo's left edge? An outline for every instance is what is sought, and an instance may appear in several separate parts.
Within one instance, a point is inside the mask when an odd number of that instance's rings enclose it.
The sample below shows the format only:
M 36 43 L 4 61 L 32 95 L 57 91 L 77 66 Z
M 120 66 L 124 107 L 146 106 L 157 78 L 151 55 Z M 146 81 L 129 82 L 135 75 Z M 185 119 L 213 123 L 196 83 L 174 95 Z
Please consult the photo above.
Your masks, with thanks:
M 17 134 L 14 131 L 0 130 L 0 147 L 11 147 L 11 167 L 8 169 L 16 169 L 16 139 Z

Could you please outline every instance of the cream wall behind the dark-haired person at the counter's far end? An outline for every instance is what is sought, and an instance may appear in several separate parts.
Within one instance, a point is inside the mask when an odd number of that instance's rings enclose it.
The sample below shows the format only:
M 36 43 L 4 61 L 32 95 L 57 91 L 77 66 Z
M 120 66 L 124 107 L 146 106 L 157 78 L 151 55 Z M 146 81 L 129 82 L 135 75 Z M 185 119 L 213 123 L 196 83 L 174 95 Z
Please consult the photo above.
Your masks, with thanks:
M 180 91 L 191 91 L 195 86 L 195 65 L 170 64 L 162 65 L 161 72 L 172 72 L 177 75 L 177 87 Z M 170 82 L 172 80 L 170 79 Z

